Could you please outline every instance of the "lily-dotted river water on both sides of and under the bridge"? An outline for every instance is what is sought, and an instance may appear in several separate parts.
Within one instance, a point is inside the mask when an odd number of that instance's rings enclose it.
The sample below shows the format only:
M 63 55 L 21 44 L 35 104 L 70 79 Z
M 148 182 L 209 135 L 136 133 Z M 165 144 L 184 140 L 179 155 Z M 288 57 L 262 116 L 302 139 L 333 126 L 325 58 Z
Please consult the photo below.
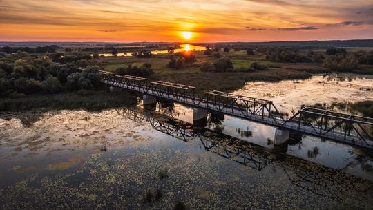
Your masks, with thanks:
M 324 80 L 323 90 L 318 82 Z M 249 83 L 237 93 L 274 99 L 285 111 L 321 102 L 321 93 L 338 94 L 337 87 L 348 84 L 333 81 L 316 76 L 299 83 Z M 372 86 L 372 78 L 350 84 L 353 90 L 343 89 L 348 91 L 338 99 L 372 97 L 361 88 Z M 298 91 L 308 85 L 314 88 L 298 102 Z M 287 97 L 291 106 L 280 106 Z M 303 135 L 276 153 L 270 126 L 210 115 L 206 128 L 197 129 L 190 108 L 147 111 L 140 104 L 97 112 L 1 113 L 2 209 L 172 209 L 178 201 L 189 209 L 373 206 L 372 155 L 361 149 Z

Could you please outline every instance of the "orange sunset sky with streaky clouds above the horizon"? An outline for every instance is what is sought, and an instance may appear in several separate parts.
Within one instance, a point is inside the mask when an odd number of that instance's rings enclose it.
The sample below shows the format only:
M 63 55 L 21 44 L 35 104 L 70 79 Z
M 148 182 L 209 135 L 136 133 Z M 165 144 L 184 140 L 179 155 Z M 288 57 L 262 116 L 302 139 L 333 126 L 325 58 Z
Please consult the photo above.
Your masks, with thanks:
M 373 1 L 0 0 L 0 41 L 372 39 Z M 189 34 L 190 35 L 190 34 Z

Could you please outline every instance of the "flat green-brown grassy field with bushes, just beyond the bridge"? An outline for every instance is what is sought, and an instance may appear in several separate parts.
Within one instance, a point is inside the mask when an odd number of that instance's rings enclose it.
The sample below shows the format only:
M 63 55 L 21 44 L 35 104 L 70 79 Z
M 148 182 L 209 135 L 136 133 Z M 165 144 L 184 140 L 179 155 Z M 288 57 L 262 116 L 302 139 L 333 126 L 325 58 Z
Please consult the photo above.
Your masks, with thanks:
M 229 73 L 206 73 L 200 72 L 199 66 L 207 61 L 215 61 L 214 56 L 203 55 L 202 52 L 195 53 L 197 61 L 191 66 L 182 70 L 167 68 L 169 55 L 155 55 L 151 59 L 140 59 L 136 57 L 104 57 L 102 66 L 109 71 L 115 71 L 118 67 L 125 67 L 128 64 L 141 66 L 144 63 L 152 64 L 155 74 L 149 80 L 163 80 L 195 86 L 198 92 L 207 90 L 233 91 L 242 88 L 245 82 L 251 81 L 269 81 L 276 82 L 283 79 L 307 79 L 312 75 L 309 72 L 321 73 L 324 68 L 321 64 L 280 64 L 271 61 L 265 61 L 262 55 L 247 55 L 245 51 L 233 51 L 220 55 L 229 57 L 235 68 L 248 68 L 254 61 L 260 61 L 262 64 L 270 66 L 269 70 L 257 70 L 251 73 L 229 72 Z

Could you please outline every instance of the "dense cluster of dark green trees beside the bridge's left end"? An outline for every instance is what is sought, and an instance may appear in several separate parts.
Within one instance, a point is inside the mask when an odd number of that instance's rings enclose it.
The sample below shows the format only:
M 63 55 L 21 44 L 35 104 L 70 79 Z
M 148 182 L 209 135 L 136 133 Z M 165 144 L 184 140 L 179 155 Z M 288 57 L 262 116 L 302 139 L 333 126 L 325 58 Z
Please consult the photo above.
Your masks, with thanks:
M 78 65 L 86 68 L 82 70 Z M 100 84 L 100 68 L 90 65 L 86 59 L 53 64 L 26 52 L 7 55 L 0 59 L 0 95 L 92 90 Z

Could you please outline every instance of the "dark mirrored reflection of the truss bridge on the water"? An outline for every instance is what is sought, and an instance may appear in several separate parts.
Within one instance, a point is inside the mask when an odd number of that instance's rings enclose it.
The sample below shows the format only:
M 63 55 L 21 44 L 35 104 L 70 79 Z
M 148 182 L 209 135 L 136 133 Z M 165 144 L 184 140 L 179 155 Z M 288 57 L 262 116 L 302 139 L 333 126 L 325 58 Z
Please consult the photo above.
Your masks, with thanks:
M 364 199 L 351 192 L 346 194 L 349 191 L 346 187 L 354 188 L 357 185 L 356 188 L 358 188 L 361 185 L 356 182 L 356 179 L 359 178 L 343 171 L 284 153 L 276 153 L 276 149 L 268 149 L 207 128 L 198 128 L 188 122 L 155 111 L 120 108 L 117 109 L 117 113 L 135 122 L 148 122 L 155 130 L 183 142 L 199 141 L 206 151 L 211 151 L 238 164 L 249 166 L 251 169 L 262 171 L 268 167 L 271 169 L 270 166 L 276 166 L 283 170 L 291 184 L 325 198 L 338 201 L 349 196 L 357 202 Z M 365 182 L 365 180 L 360 181 Z M 371 182 L 366 183 L 367 189 L 361 190 L 370 194 L 372 192 L 369 186 L 372 184 Z

